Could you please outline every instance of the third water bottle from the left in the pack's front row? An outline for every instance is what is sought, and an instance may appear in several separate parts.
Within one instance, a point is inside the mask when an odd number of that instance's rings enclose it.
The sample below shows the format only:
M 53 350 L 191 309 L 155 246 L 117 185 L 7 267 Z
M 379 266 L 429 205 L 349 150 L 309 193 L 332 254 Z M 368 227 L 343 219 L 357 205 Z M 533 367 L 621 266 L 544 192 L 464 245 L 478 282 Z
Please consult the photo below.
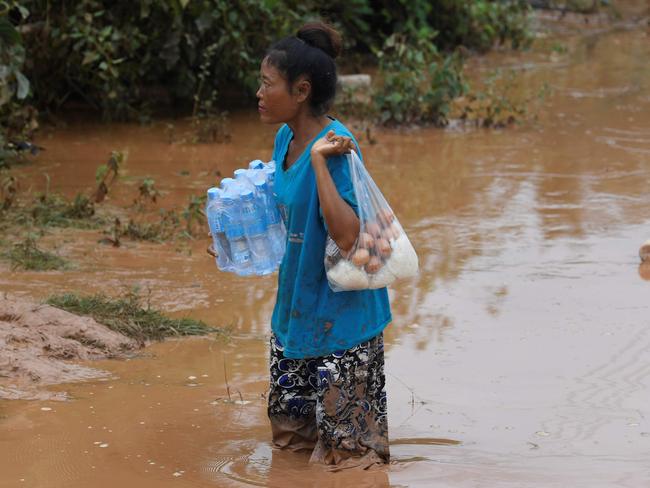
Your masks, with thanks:
M 266 219 L 261 207 L 255 202 L 255 195 L 250 190 L 241 194 L 241 214 L 243 227 L 248 237 L 253 267 L 258 275 L 272 273 L 275 260 L 266 234 Z

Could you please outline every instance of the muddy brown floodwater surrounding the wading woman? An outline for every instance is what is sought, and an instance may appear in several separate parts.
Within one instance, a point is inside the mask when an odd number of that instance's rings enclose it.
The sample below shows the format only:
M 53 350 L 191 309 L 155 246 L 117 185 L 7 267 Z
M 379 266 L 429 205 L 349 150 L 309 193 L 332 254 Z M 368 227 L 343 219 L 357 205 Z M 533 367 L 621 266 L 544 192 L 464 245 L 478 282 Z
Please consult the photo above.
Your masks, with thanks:
M 57 231 L 47 243 L 77 267 L 3 264 L 2 290 L 43 298 L 138 284 L 154 305 L 233 336 L 92 363 L 112 377 L 55 387 L 67 402 L 0 401 L 0 486 L 648 486 L 650 282 L 637 250 L 650 238 L 650 37 L 641 24 L 560 39 L 566 54 L 474 63 L 547 81 L 537 123 L 382 131 L 363 146 L 421 261 L 417 279 L 390 291 L 388 469 L 324 473 L 271 449 L 275 277 L 219 273 L 205 242 L 113 249 L 97 231 Z M 111 203 L 151 176 L 170 206 L 216 171 L 268 158 L 272 136 L 247 113 L 223 145 L 169 145 L 164 123 L 71 123 L 45 133 L 47 151 L 17 172 L 34 189 L 47 173 L 72 194 L 124 149 Z

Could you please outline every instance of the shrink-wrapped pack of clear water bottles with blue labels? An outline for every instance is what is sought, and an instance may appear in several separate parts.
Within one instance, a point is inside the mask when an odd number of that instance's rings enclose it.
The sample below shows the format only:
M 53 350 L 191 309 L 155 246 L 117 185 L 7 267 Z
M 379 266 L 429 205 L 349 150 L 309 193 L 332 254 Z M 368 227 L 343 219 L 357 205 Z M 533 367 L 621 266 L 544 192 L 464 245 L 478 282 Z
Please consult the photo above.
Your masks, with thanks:
M 280 265 L 287 233 L 273 197 L 274 178 L 274 161 L 255 160 L 208 190 L 206 215 L 220 270 L 267 275 Z

